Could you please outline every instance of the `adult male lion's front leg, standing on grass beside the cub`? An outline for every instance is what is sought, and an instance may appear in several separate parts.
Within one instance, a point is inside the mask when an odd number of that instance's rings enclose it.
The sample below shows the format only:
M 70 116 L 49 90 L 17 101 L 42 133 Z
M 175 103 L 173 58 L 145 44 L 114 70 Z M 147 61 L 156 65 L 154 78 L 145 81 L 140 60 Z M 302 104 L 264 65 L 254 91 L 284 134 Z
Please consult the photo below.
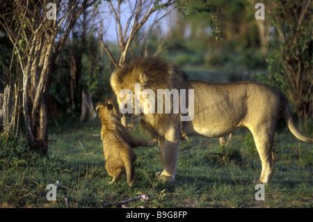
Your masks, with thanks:
M 159 139 L 161 154 L 164 164 L 164 170 L 158 173 L 159 180 L 164 182 L 175 181 L 175 174 L 177 169 L 177 159 L 179 153 L 179 134 L 173 132 L 167 134 L 166 138 Z

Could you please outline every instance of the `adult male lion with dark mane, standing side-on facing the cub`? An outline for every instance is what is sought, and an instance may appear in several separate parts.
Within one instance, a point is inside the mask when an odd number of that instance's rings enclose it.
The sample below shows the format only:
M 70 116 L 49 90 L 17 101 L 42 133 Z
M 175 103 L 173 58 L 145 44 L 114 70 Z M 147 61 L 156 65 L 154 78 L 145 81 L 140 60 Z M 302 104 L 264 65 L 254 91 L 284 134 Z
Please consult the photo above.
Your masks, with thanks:
M 254 181 L 258 183 L 269 182 L 273 175 L 275 160 L 272 146 L 275 127 L 281 113 L 284 113 L 289 129 L 297 138 L 312 143 L 312 138 L 303 136 L 296 128 L 286 97 L 280 90 L 264 84 L 252 82 L 208 84 L 191 81 L 172 63 L 157 58 L 140 58 L 115 70 L 111 76 L 111 86 L 119 104 L 122 101 L 125 104 L 125 100 L 129 100 L 127 104 L 132 105 L 134 110 L 136 101 L 139 100 L 141 105 L 145 102 L 144 97 L 138 98 L 138 95 L 137 97 L 135 95 L 138 86 L 141 92 L 151 89 L 155 95 L 158 89 L 193 89 L 194 109 L 188 110 L 188 115 L 192 113 L 190 121 L 182 121 L 184 116 L 182 111 L 179 113 L 173 111 L 174 101 L 171 101 L 171 113 L 138 113 L 137 110 L 135 114 L 142 117 L 143 127 L 150 130 L 152 137 L 159 140 L 164 163 L 164 171 L 159 178 L 167 182 L 175 180 L 182 133 L 219 138 L 234 132 L 238 127 L 247 127 L 255 139 L 262 161 L 261 176 L 259 180 Z M 134 95 L 120 97 L 123 89 L 131 90 Z M 181 98 L 182 96 L 179 96 L 180 103 Z M 185 104 L 189 104 L 190 100 L 189 98 Z M 150 103 L 149 106 L 157 105 Z M 143 110 L 150 107 L 143 107 Z

